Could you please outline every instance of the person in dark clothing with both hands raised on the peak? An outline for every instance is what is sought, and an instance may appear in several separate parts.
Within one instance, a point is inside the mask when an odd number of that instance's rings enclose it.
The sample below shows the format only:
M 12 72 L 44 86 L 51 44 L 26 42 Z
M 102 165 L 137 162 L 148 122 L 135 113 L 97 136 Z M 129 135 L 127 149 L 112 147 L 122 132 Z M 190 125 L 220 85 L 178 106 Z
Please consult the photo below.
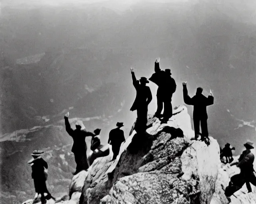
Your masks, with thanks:
M 204 137 L 208 138 L 208 127 L 207 127 L 207 112 L 206 106 L 210 106 L 213 104 L 214 98 L 212 96 L 212 91 L 210 92 L 210 96 L 206 98 L 202 94 L 203 89 L 201 87 L 197 88 L 196 95 L 193 98 L 188 96 L 188 89 L 186 82 L 183 82 L 183 98 L 184 102 L 188 105 L 194 106 L 193 111 L 193 120 L 194 120 L 194 132 L 195 138 L 196 135 L 200 132 L 200 122 L 201 122 L 201 129 L 202 129 L 202 137 L 201 140 L 204 141 Z

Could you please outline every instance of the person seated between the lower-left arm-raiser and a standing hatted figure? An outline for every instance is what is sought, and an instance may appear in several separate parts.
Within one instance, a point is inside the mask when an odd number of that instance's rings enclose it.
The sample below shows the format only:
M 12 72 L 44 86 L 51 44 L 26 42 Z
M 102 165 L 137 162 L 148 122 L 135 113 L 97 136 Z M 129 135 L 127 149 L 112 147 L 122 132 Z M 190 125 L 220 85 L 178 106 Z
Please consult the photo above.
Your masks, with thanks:
M 108 145 L 100 144 L 100 131 L 101 129 L 94 130 L 95 136 L 92 137 L 91 151 L 89 153 L 88 161 L 92 165 L 95 159 L 98 157 L 106 157 L 109 155 L 110 150 Z

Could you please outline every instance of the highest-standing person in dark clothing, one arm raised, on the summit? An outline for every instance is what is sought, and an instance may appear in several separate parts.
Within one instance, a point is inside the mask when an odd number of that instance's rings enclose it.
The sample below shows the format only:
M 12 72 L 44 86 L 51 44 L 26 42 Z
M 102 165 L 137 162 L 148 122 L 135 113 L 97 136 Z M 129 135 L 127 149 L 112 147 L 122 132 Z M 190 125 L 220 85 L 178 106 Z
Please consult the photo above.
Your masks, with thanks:
M 157 98 L 157 110 L 155 116 L 161 118 L 163 116 L 162 123 L 167 123 L 167 121 L 172 117 L 172 94 L 176 90 L 175 80 L 171 77 L 171 70 L 166 69 L 162 71 L 159 67 L 160 58 L 155 61 L 155 73 L 149 78 L 150 81 L 158 85 L 158 90 L 156 93 Z M 161 115 L 164 104 L 164 113 Z

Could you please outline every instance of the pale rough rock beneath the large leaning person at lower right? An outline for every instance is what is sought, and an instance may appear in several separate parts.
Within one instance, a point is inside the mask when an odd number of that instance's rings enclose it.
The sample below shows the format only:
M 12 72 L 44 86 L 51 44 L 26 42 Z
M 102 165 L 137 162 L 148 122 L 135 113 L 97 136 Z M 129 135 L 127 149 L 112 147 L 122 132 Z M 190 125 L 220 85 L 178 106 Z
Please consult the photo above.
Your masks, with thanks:
M 234 158 L 236 161 L 236 158 Z M 239 174 L 240 169 L 236 166 L 230 167 L 229 164 L 219 164 L 218 178 L 216 180 L 215 192 L 210 204 L 256 204 L 256 188 L 251 184 L 252 192 L 248 193 L 246 184 L 235 192 L 230 199 L 228 199 L 224 190 L 233 175 Z

